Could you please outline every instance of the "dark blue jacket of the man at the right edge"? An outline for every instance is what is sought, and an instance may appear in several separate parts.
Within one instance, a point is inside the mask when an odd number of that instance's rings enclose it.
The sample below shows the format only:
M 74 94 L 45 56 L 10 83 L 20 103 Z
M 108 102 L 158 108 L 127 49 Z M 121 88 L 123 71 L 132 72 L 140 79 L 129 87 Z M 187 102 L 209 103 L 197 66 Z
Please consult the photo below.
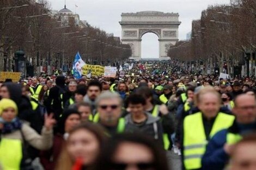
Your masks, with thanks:
M 239 125 L 235 121 L 230 128 L 216 133 L 208 145 L 202 158 L 202 170 L 222 170 L 228 163 L 229 155 L 224 151 L 224 144 L 227 142 L 227 134 L 244 135 L 256 129 L 256 123 L 248 125 Z

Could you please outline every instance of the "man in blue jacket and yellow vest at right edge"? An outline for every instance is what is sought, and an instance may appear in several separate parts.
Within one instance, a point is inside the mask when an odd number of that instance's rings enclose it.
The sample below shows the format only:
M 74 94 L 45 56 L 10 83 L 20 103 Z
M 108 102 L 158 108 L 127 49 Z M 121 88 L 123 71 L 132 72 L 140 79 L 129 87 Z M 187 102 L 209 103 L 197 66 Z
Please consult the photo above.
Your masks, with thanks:
M 224 169 L 234 144 L 240 141 L 243 135 L 256 131 L 256 100 L 254 96 L 246 94 L 237 96 L 233 113 L 236 116 L 233 125 L 219 131 L 209 141 L 202 158 L 202 169 Z

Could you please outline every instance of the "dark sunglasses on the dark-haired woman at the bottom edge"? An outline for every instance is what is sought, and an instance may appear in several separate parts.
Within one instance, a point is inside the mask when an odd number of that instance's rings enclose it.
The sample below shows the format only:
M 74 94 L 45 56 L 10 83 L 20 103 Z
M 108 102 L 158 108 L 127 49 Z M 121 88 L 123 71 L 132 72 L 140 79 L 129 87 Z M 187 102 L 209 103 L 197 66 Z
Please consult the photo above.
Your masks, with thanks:
M 111 168 L 113 170 L 125 170 L 130 165 L 131 164 L 128 164 L 128 163 L 111 163 Z M 138 162 L 132 165 L 137 166 L 139 170 L 154 169 L 155 167 L 154 163 L 144 163 L 144 162 Z

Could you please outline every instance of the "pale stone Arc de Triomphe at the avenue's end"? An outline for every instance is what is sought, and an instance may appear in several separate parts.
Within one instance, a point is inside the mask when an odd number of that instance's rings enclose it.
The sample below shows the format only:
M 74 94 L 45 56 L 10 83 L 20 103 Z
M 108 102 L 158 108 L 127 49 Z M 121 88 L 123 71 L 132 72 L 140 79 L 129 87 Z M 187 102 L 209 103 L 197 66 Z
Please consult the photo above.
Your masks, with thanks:
M 132 58 L 141 59 L 141 41 L 146 33 L 159 37 L 159 58 L 167 59 L 167 48 L 175 45 L 179 37 L 179 14 L 159 11 L 122 13 L 122 42 L 132 48 Z

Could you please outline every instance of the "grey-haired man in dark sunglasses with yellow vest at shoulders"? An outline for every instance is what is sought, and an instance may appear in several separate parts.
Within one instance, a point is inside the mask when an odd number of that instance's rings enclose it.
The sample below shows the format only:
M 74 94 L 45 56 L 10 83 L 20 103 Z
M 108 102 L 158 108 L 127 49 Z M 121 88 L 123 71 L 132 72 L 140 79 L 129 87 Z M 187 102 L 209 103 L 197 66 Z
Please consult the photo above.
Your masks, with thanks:
M 112 136 L 123 133 L 125 120 L 121 118 L 123 100 L 117 92 L 102 92 L 96 99 L 97 114 L 93 118 L 94 123 L 99 123 Z

